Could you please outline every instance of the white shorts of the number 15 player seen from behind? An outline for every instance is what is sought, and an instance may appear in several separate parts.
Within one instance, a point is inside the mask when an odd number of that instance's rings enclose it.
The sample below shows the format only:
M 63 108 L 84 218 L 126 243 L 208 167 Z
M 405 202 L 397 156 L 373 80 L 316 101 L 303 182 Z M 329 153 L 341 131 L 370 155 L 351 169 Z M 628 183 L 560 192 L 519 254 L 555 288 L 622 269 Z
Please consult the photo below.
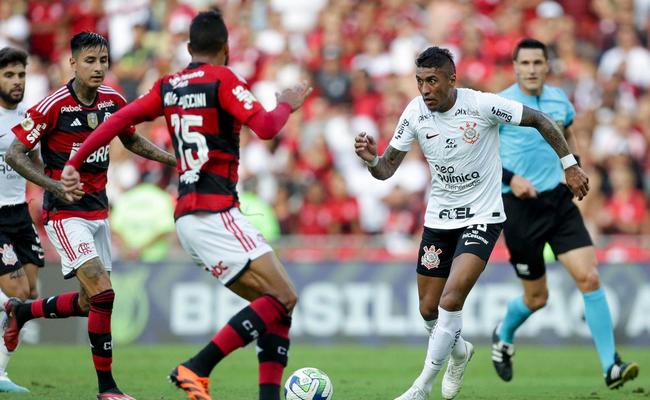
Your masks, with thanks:
M 252 260 L 273 251 L 238 208 L 184 215 L 176 221 L 176 232 L 192 259 L 224 285 L 233 283 Z

